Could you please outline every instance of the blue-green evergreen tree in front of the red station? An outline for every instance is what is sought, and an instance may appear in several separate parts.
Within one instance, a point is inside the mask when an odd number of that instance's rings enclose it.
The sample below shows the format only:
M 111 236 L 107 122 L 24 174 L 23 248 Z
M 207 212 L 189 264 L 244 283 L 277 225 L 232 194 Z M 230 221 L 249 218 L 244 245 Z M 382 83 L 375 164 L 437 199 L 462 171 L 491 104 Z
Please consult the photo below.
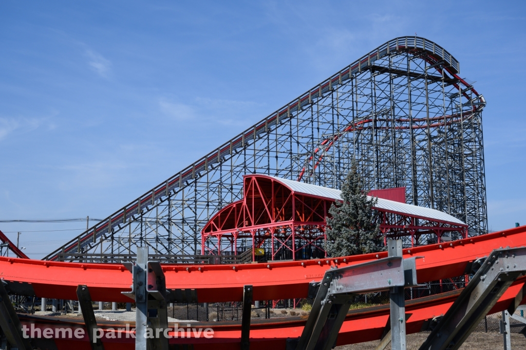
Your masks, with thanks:
M 380 225 L 372 206 L 378 198 L 368 198 L 356 162 L 341 186 L 343 202 L 336 201 L 327 218 L 326 251 L 329 256 L 366 254 L 385 250 Z

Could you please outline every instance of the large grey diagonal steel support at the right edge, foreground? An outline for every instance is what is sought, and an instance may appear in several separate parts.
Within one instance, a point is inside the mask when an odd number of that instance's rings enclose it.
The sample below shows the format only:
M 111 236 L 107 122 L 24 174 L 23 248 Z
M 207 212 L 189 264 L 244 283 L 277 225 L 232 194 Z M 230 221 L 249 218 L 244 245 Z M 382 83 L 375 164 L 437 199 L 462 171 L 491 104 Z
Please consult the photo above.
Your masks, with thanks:
M 524 274 L 526 248 L 495 249 L 433 328 L 420 350 L 458 349 L 506 289 Z M 522 289 L 520 294 L 522 296 Z

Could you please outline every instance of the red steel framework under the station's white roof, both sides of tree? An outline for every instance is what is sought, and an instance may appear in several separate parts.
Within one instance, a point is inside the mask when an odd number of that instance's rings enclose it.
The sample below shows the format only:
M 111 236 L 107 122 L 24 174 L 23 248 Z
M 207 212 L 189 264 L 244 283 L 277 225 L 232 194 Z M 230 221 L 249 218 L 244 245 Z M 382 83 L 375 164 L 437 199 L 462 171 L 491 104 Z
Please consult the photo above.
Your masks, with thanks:
M 403 187 L 401 188 L 403 189 Z M 278 201 L 279 196 L 276 194 L 282 195 L 281 201 Z M 285 197 L 287 197 L 286 200 Z M 286 225 L 317 225 L 319 227 L 318 235 L 323 237 L 324 228 L 327 224 L 325 218 L 329 215 L 327 207 L 333 202 L 335 200 L 331 198 L 297 193 L 286 184 L 267 175 L 245 175 L 243 178 L 243 198 L 220 209 L 201 229 L 201 254 L 211 250 L 207 245 L 210 238 L 216 238 L 219 242 L 222 238 L 227 237 L 230 239 L 232 237 L 236 239 L 249 237 L 253 240 L 254 236 L 257 235 L 261 239 L 271 239 L 274 243 L 273 229 Z M 388 236 L 393 234 L 418 235 L 423 230 L 424 232 L 434 232 L 440 237 L 444 232 L 459 231 L 464 233 L 468 228 L 466 224 L 441 221 L 375 206 L 373 209 L 382 214 L 380 229 L 383 233 L 393 229 L 403 230 L 403 232 L 390 232 Z M 394 216 L 399 217 L 398 222 L 393 222 Z M 414 225 L 416 218 L 421 219 L 420 225 Z M 259 232 L 255 234 L 256 231 Z M 265 231 L 265 235 L 262 235 L 263 231 Z M 297 236 L 294 227 L 291 227 L 291 231 L 291 239 L 294 243 Z M 269 234 L 267 235 L 267 233 Z M 235 242 L 234 240 L 234 245 L 236 245 Z M 219 252 L 219 243 L 216 248 Z M 235 250 L 237 246 L 231 246 L 231 249 Z M 291 248 L 286 247 L 286 249 Z M 275 249 L 272 248 L 272 256 L 274 253 Z

